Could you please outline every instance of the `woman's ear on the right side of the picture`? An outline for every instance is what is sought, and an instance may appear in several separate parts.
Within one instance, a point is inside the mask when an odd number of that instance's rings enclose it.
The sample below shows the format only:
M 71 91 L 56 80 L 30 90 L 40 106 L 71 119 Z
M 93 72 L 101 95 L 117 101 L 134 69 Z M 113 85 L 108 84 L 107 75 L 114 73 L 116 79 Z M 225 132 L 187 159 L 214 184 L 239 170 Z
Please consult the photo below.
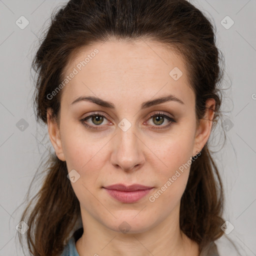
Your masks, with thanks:
M 214 116 L 215 100 L 208 98 L 205 102 L 206 110 L 202 119 L 199 120 L 199 124 L 195 132 L 195 142 L 193 148 L 193 155 L 200 152 L 203 146 L 206 144 L 212 127 L 212 119 Z

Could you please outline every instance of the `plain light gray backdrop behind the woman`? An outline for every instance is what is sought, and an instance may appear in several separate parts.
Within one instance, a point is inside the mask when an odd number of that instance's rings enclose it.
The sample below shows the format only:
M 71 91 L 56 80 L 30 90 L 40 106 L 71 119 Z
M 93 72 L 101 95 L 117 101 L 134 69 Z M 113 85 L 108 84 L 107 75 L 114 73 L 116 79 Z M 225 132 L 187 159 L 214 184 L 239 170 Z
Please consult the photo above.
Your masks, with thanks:
M 21 255 L 15 238 L 28 186 L 46 148 L 53 148 L 46 127 L 36 124 L 31 105 L 33 80 L 30 65 L 37 36 L 47 24 L 59 0 L 0 0 L 0 256 Z M 223 180 L 224 218 L 234 229 L 227 235 L 243 255 L 256 255 L 256 1 L 190 0 L 216 25 L 217 46 L 224 54 L 225 98 L 219 123 L 210 142 Z M 29 24 L 20 29 L 15 21 L 23 15 Z M 226 29 L 221 20 L 234 24 Z M 230 20 L 225 19 L 225 26 Z M 24 24 L 24 23 L 23 23 Z M 22 126 L 24 119 L 28 126 Z M 221 148 L 223 132 L 226 143 Z M 228 125 L 228 126 L 227 126 Z M 220 139 L 220 142 L 219 142 Z M 222 244 L 222 245 L 221 245 Z M 221 255 L 230 256 L 219 240 Z M 232 254 L 234 255 L 234 254 Z

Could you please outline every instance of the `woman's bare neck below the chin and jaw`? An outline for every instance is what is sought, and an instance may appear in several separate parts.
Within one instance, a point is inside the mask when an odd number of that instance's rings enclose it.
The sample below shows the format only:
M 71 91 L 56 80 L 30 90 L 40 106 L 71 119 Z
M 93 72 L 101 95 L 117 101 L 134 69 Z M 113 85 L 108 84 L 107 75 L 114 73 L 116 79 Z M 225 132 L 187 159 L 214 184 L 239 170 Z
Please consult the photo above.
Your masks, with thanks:
M 83 234 L 76 241 L 80 256 L 198 256 L 198 245 L 179 228 L 179 208 L 146 230 L 120 233 L 107 228 L 82 211 Z M 173 221 L 175 219 L 175 221 Z M 86 225 L 84 225 L 86 223 Z

